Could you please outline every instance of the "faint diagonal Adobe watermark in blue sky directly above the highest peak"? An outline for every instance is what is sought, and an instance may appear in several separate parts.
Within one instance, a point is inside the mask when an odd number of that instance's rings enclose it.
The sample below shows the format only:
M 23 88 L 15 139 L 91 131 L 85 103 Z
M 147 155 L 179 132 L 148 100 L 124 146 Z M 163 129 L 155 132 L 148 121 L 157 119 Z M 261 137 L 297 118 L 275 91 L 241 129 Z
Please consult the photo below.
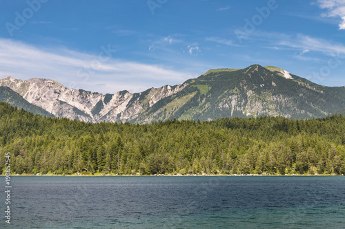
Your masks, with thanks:
M 284 1 L 284 0 L 282 0 Z M 257 14 L 254 14 L 251 19 L 244 19 L 244 28 L 239 30 L 234 30 L 234 33 L 239 41 L 239 43 L 242 43 L 244 39 L 248 39 L 248 36 L 255 32 L 257 27 L 259 25 L 262 25 L 264 22 L 264 19 L 268 19 L 270 17 L 270 13 L 273 10 L 277 10 L 278 8 L 278 3 L 275 0 L 268 0 L 267 5 L 262 7 L 262 8 L 255 8 L 257 11 Z

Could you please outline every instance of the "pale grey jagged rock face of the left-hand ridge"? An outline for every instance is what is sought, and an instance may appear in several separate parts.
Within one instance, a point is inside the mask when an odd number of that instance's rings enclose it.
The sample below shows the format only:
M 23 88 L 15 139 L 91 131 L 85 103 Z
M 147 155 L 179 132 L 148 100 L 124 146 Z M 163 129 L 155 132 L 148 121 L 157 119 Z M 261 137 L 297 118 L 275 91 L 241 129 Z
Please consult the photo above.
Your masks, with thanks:
M 139 94 L 119 91 L 115 95 L 103 95 L 82 89 L 68 89 L 50 79 L 32 78 L 23 81 L 12 77 L 1 79 L 0 85 L 10 87 L 32 105 L 41 107 L 57 117 L 84 122 L 130 121 L 143 111 L 143 102 L 145 105 L 148 102 L 148 107 L 151 107 L 161 98 L 183 89 L 182 85 L 164 86 Z

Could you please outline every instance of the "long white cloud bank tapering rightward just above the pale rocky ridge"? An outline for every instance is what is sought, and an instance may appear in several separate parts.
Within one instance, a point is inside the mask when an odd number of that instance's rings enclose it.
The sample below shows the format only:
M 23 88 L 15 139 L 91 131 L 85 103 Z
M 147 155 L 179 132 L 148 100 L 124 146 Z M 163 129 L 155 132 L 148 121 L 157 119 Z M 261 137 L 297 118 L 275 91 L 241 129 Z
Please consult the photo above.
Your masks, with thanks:
M 99 54 L 86 54 L 64 48 L 40 49 L 9 39 L 0 39 L 0 69 L 0 78 L 50 78 L 66 87 L 101 93 L 175 85 L 192 77 L 157 65 L 120 60 L 108 45 L 100 47 Z

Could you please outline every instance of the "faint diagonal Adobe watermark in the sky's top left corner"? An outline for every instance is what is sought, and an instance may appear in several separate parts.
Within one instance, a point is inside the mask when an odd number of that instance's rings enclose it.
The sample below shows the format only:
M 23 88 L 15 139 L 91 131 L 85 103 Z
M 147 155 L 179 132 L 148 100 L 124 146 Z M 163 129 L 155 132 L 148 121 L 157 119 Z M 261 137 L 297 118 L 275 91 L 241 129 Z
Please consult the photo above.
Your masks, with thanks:
M 47 3 L 48 1 L 49 0 L 27 0 L 26 4 L 28 4 L 28 7 L 23 9 L 21 14 L 18 11 L 14 12 L 16 15 L 14 24 L 10 22 L 5 23 L 8 34 L 13 36 L 14 30 L 20 30 L 20 28 L 26 24 L 27 20 L 31 19 L 34 16 L 34 13 L 41 9 L 41 4 Z

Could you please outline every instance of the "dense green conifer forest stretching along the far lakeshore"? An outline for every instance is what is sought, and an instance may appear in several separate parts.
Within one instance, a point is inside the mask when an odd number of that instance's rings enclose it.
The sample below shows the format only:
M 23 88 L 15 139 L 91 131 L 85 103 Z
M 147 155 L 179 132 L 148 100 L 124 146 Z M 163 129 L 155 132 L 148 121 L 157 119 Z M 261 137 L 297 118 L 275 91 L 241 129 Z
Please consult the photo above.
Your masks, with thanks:
M 150 124 L 50 118 L 0 102 L 0 168 L 72 175 L 345 173 L 345 117 Z

